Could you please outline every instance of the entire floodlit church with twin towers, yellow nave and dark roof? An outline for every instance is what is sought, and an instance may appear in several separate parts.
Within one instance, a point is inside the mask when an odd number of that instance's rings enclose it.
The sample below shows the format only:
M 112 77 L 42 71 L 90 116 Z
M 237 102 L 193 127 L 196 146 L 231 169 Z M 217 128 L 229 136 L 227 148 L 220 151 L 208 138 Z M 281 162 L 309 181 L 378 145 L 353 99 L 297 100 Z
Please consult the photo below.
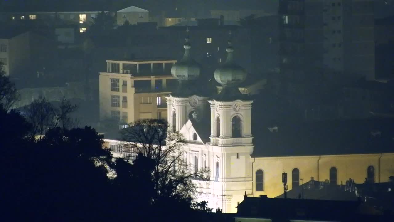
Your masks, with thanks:
M 283 194 L 283 172 L 288 190 L 309 180 L 387 182 L 394 175 L 393 124 L 381 128 L 375 122 L 386 120 L 365 120 L 253 128 L 261 123 L 252 120 L 252 98 L 239 90 L 247 73 L 236 63 L 231 34 L 227 60 L 214 71 L 223 87 L 215 96 L 198 84 L 201 66 L 191 58 L 189 37 L 184 50 L 171 68 L 179 86 L 166 97 L 167 121 L 169 131 L 188 141 L 183 155 L 192 169 L 210 168 L 208 182 L 196 181 L 197 201 L 236 213 L 245 192 L 251 197 Z

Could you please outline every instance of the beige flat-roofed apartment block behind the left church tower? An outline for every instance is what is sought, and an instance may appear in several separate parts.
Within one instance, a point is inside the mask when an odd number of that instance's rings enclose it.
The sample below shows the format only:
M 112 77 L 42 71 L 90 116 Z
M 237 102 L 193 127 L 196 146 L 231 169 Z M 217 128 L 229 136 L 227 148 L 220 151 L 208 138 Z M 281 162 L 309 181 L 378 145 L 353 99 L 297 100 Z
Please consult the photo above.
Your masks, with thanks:
M 165 119 L 166 95 L 176 83 L 171 67 L 177 60 L 106 60 L 99 73 L 100 120 L 120 124 L 139 119 Z

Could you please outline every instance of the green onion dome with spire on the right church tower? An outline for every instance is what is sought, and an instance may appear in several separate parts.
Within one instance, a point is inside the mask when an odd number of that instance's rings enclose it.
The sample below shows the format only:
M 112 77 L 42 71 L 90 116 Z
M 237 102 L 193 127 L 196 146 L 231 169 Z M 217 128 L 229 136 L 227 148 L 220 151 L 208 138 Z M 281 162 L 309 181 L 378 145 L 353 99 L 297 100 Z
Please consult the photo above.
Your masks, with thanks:
M 247 76 L 246 71 L 234 61 L 234 48 L 231 39 L 228 41 L 229 46 L 226 48 L 227 59 L 223 65 L 219 66 L 214 72 L 215 80 L 225 87 L 235 87 L 242 83 Z

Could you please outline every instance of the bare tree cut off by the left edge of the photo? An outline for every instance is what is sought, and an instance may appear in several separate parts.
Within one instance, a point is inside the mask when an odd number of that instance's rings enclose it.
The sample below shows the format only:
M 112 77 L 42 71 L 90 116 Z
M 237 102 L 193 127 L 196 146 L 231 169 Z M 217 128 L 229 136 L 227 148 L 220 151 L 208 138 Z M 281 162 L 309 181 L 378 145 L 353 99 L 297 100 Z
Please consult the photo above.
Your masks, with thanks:
M 6 111 L 9 111 L 13 104 L 19 100 L 19 94 L 15 84 L 6 76 L 3 64 L 0 62 L 0 103 Z

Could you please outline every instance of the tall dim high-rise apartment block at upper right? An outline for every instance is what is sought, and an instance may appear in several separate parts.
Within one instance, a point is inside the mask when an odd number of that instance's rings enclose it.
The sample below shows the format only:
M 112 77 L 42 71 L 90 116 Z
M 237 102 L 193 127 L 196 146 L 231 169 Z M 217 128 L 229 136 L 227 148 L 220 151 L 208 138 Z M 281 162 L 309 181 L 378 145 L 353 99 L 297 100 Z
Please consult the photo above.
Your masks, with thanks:
M 375 78 L 373 0 L 281 0 L 279 15 L 285 88 Z

